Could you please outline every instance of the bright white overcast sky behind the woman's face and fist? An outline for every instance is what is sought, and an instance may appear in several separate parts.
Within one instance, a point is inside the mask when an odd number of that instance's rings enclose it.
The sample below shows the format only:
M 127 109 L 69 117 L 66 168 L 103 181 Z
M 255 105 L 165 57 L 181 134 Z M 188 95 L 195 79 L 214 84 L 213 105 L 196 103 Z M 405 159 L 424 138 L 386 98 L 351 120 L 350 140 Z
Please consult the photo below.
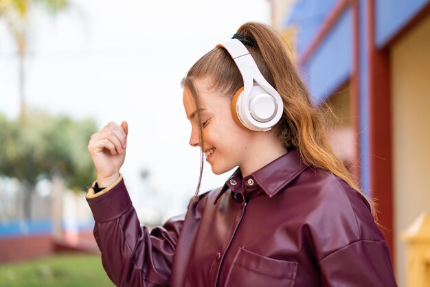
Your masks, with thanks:
M 73 0 L 55 16 L 35 11 L 27 105 L 93 117 L 100 128 L 126 120 L 124 181 L 141 217 L 164 220 L 185 211 L 199 179 L 181 79 L 246 21 L 270 23 L 269 0 Z M 19 113 L 17 68 L 12 37 L 0 21 L 0 113 L 10 118 Z M 231 172 L 216 176 L 205 163 L 201 192 L 223 185 Z

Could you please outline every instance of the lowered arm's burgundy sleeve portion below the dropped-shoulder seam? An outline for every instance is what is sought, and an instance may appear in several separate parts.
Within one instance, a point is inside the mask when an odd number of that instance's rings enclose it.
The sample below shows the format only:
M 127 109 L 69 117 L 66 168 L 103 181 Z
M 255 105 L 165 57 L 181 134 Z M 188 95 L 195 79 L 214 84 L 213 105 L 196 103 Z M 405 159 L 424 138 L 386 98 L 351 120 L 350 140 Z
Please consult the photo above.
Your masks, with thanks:
M 383 241 L 359 240 L 319 261 L 321 287 L 397 286 Z

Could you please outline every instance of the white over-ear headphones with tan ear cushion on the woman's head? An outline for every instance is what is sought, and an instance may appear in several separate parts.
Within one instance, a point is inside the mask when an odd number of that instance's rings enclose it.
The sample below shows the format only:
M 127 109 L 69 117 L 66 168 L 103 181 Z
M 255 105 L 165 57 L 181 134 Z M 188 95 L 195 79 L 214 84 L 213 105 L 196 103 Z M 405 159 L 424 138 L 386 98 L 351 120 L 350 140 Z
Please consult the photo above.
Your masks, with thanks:
M 281 96 L 264 79 L 248 49 L 238 39 L 216 47 L 223 47 L 229 52 L 243 78 L 243 87 L 236 91 L 231 101 L 234 120 L 249 130 L 270 130 L 282 117 L 284 104 Z

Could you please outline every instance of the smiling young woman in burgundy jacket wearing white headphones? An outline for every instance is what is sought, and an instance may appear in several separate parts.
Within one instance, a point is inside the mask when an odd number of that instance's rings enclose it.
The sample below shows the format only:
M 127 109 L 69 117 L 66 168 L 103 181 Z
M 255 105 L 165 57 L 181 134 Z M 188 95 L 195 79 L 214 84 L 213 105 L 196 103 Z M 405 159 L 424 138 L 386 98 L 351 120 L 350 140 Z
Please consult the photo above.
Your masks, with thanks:
M 120 175 L 126 122 L 89 141 L 98 179 L 87 200 L 117 286 L 396 286 L 372 203 L 330 150 L 269 26 L 245 23 L 198 60 L 183 80 L 183 105 L 190 145 L 212 171 L 238 168 L 151 232 Z

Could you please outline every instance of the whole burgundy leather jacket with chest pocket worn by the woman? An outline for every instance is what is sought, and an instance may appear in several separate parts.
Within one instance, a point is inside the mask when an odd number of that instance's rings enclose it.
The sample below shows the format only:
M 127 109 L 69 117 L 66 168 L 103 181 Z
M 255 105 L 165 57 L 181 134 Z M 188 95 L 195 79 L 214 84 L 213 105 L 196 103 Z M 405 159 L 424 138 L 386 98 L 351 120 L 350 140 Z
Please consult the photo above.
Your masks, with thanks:
M 117 286 L 396 286 L 367 201 L 297 150 L 243 179 L 237 170 L 151 232 L 122 178 L 87 200 Z

